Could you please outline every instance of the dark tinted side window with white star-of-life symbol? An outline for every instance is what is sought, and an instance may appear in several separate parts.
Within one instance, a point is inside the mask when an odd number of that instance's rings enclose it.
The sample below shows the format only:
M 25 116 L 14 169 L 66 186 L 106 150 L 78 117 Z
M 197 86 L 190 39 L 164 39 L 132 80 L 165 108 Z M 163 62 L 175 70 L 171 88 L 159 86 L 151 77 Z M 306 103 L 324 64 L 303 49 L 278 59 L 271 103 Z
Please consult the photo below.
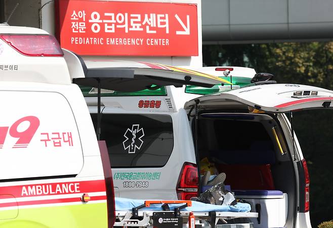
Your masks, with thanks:
M 96 126 L 97 115 L 92 114 Z M 174 147 L 171 116 L 103 114 L 101 140 L 112 167 L 161 167 Z

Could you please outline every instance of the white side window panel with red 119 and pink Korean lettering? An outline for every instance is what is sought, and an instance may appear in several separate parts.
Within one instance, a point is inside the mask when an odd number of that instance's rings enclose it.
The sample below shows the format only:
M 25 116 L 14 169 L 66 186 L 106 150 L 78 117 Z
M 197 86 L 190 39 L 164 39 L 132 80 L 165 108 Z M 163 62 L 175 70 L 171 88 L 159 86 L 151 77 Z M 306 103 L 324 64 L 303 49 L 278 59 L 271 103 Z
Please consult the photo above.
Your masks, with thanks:
M 72 109 L 57 92 L 0 91 L 2 179 L 77 175 L 83 165 Z

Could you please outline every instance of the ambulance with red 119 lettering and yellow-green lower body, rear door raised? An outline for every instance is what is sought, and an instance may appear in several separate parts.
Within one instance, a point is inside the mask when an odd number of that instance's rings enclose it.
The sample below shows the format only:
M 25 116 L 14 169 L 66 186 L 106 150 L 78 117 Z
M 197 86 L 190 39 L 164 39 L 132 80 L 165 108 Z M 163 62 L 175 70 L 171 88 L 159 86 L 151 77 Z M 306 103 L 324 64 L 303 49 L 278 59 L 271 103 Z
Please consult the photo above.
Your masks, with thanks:
M 87 69 L 47 32 L 0 24 L 2 227 L 114 224 L 113 158 L 109 160 L 105 142 L 97 141 L 85 99 L 73 81 L 118 90 L 157 90 L 165 85 L 213 86 L 223 79 L 172 67 L 124 69 L 120 63 L 116 69 Z M 124 145 L 135 151 L 133 143 Z

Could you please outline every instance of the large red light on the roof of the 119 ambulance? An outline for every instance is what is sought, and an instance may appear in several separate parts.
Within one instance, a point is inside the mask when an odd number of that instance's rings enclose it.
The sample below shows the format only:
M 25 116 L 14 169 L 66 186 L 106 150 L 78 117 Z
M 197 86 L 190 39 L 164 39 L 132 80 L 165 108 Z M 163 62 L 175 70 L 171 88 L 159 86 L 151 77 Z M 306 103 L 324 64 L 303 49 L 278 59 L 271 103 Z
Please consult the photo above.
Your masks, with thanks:
M 52 35 L 5 34 L 0 38 L 15 50 L 27 56 L 63 56 L 64 53 Z

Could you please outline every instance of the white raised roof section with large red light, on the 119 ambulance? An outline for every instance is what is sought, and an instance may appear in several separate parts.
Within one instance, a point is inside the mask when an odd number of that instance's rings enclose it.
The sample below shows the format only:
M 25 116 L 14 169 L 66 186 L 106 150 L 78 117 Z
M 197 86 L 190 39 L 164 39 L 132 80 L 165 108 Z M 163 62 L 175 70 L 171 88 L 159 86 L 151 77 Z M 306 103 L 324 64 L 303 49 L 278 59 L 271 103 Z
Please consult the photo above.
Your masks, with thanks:
M 1 81 L 71 84 L 58 41 L 41 29 L 1 24 L 0 63 Z

